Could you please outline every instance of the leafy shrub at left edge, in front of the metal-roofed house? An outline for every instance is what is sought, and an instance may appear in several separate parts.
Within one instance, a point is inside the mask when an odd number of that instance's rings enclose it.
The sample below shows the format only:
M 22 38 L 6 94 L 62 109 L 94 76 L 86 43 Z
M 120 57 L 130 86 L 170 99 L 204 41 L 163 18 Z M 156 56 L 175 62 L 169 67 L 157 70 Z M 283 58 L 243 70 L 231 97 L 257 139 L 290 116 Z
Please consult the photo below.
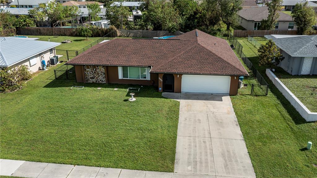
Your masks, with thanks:
M 23 85 L 23 81 L 30 77 L 31 73 L 29 67 L 26 65 L 20 65 L 14 68 L 6 67 L 0 71 L 0 90 L 5 92 L 20 88 Z

